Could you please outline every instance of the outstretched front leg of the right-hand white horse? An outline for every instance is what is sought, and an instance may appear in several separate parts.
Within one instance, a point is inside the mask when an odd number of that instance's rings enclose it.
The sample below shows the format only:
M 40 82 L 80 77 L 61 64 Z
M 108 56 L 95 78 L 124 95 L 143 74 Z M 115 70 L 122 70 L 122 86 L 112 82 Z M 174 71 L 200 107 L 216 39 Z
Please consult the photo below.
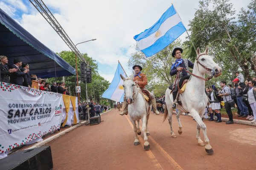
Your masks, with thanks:
M 193 116 L 193 118 L 195 119 L 195 121 L 198 123 L 199 127 L 203 130 L 204 142 L 205 142 L 205 151 L 212 155 L 213 150 L 212 150 L 212 146 L 210 145 L 209 138 L 208 138 L 207 133 L 206 133 L 206 125 L 202 121 L 202 118 L 199 116 L 199 113 L 197 111 L 195 111 L 195 109 L 193 109 L 190 113 Z M 198 133 L 197 133 L 197 136 L 196 136 L 197 139 L 198 139 L 199 133 L 200 133 L 200 131 L 198 130 Z M 199 144 L 199 140 L 198 140 L 198 144 Z

